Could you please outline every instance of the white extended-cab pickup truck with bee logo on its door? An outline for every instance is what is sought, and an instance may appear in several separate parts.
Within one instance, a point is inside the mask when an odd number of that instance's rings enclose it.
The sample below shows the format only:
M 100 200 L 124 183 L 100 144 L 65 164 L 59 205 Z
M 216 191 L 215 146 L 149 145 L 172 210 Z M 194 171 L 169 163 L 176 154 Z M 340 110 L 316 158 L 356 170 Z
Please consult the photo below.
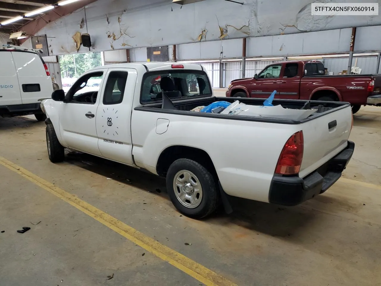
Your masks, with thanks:
M 94 90 L 91 80 L 101 79 Z M 83 74 L 66 93 L 41 105 L 50 161 L 64 148 L 146 169 L 166 177 L 176 209 L 193 218 L 211 214 L 229 196 L 286 206 L 326 191 L 354 151 L 348 141 L 351 105 L 311 101 L 303 120 L 192 111 L 215 101 L 202 66 L 126 63 Z M 262 105 L 263 99 L 240 98 Z M 307 101 L 274 100 L 301 109 Z

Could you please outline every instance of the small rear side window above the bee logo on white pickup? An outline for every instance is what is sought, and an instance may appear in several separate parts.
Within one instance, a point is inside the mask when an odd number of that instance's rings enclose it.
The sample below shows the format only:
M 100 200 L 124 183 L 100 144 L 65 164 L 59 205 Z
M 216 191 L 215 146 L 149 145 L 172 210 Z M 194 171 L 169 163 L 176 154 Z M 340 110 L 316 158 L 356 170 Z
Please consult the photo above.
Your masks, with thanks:
M 103 104 L 118 104 L 123 101 L 128 72 L 112 71 L 104 89 Z

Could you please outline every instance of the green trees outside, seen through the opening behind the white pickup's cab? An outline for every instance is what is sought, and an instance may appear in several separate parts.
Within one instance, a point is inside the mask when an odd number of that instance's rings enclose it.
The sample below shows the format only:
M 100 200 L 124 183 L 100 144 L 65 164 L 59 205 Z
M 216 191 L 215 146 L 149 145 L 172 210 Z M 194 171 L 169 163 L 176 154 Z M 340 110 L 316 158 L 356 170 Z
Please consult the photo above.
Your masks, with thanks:
M 61 77 L 78 77 L 93 67 L 101 66 L 101 53 L 78 53 L 58 56 Z

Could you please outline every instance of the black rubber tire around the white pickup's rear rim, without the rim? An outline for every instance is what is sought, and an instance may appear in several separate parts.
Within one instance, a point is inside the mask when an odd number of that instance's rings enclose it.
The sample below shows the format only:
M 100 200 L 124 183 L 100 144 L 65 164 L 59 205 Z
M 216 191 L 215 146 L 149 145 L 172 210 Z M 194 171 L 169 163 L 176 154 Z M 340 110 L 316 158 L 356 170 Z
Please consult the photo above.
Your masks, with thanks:
M 181 171 L 193 173 L 195 175 L 195 178 L 193 178 L 193 175 L 191 175 L 192 179 L 189 181 L 195 181 L 201 185 L 201 201 L 199 202 L 199 205 L 194 208 L 184 206 L 184 204 L 180 202 L 180 198 L 178 198 L 175 194 L 175 192 L 178 192 L 178 195 L 180 196 L 181 193 L 181 190 L 178 186 L 176 186 L 176 189 L 173 186 L 175 177 L 177 178 L 177 174 Z M 202 219 L 203 217 L 206 217 L 213 213 L 218 207 L 219 188 L 217 185 L 217 180 L 208 171 L 208 169 L 206 169 L 205 167 L 203 167 L 203 165 L 197 163 L 196 161 L 190 159 L 178 159 L 174 161 L 170 165 L 166 175 L 166 187 L 168 190 L 168 195 L 170 196 L 173 205 L 179 212 L 186 215 L 187 217 L 191 217 L 193 219 Z M 183 191 L 183 193 L 185 194 L 185 190 Z

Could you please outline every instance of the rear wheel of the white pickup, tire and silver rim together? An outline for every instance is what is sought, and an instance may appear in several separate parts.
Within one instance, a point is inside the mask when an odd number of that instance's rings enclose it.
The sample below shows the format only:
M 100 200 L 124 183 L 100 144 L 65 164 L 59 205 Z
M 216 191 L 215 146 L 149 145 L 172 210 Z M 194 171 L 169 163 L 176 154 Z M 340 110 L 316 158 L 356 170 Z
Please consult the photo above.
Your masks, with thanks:
M 166 187 L 173 205 L 187 217 L 201 219 L 218 206 L 219 191 L 214 176 L 193 160 L 174 161 L 166 175 Z

